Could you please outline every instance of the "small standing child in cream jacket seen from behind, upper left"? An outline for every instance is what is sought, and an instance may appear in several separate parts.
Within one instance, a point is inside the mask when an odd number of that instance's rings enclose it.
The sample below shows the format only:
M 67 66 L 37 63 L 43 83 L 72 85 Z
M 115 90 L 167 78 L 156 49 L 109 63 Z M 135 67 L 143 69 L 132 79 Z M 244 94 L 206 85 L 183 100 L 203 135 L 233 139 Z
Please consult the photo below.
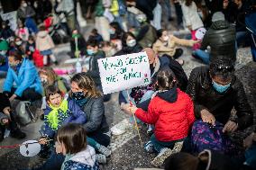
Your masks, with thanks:
M 54 48 L 53 40 L 51 39 L 48 31 L 45 31 L 45 27 L 43 25 L 40 27 L 40 31 L 37 33 L 35 45 L 36 49 L 40 50 L 41 55 L 43 56 L 44 66 L 48 64 L 48 56 L 50 56 L 50 59 L 55 65 L 58 65 L 58 61 L 51 51 L 51 49 Z

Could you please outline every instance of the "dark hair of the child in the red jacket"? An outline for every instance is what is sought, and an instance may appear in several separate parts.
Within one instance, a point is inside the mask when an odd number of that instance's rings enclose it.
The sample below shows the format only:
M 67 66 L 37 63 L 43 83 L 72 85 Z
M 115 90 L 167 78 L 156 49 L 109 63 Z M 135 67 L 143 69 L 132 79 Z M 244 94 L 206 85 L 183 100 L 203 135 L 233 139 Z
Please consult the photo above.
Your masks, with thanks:
M 160 90 L 169 90 L 176 85 L 176 76 L 168 67 L 160 70 L 157 75 L 157 88 Z

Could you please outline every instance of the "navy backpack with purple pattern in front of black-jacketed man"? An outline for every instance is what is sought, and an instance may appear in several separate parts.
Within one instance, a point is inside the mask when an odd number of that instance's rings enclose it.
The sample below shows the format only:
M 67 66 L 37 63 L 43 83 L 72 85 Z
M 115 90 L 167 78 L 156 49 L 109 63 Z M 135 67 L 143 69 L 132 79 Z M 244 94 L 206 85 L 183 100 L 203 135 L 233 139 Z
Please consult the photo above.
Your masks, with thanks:
M 202 120 L 195 121 L 192 127 L 191 142 L 193 152 L 202 152 L 204 149 L 214 150 L 220 154 L 235 154 L 234 145 L 229 137 L 223 133 L 224 125 L 215 122 L 215 126 Z

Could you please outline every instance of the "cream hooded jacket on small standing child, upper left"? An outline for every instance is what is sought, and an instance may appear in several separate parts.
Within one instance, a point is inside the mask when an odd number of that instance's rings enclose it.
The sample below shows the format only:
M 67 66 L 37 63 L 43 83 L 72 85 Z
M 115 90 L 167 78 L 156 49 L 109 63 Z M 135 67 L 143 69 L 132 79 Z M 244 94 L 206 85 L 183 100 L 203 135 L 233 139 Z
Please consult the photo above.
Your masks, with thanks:
M 36 49 L 43 51 L 54 48 L 53 40 L 48 31 L 39 31 L 35 41 Z

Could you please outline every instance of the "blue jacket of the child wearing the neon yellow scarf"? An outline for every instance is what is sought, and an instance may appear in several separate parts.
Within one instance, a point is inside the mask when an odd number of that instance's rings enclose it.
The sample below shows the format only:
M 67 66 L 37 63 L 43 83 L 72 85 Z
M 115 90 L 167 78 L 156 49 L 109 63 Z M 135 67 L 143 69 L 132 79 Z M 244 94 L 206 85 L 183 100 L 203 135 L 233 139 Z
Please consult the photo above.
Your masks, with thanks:
M 52 130 L 50 127 L 50 123 L 47 120 L 47 116 L 51 112 L 51 108 L 49 105 L 46 106 L 44 110 L 44 128 L 41 131 L 42 136 L 49 137 L 53 139 L 56 130 Z M 62 112 L 59 112 L 59 127 L 68 123 L 78 123 L 84 124 L 87 121 L 87 115 L 83 112 L 78 104 L 74 100 L 68 100 L 68 112 L 67 116 L 65 116 Z

